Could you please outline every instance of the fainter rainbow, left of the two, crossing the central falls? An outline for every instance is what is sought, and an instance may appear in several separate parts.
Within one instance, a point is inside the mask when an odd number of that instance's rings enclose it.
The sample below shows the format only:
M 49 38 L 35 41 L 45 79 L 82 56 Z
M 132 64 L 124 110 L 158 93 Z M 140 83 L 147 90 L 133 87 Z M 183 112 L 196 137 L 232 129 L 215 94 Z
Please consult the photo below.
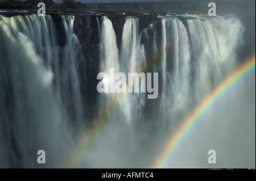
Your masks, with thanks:
M 154 52 L 154 56 L 150 56 L 147 59 L 146 64 L 142 65 L 142 68 L 138 69 L 137 73 L 141 72 L 150 72 L 157 62 L 162 60 L 162 50 L 163 47 L 160 47 L 158 51 Z M 63 163 L 64 167 L 79 167 L 83 157 L 89 152 L 89 148 L 92 147 L 92 144 L 97 140 L 97 137 L 100 136 L 100 133 L 103 129 L 109 125 L 112 121 L 112 116 L 118 111 L 120 105 L 129 97 L 129 93 L 116 93 L 112 99 L 106 103 L 104 110 L 102 110 L 97 118 L 93 120 L 92 125 L 89 129 L 81 134 L 79 140 L 75 143 L 75 149 L 69 154 L 70 158 Z

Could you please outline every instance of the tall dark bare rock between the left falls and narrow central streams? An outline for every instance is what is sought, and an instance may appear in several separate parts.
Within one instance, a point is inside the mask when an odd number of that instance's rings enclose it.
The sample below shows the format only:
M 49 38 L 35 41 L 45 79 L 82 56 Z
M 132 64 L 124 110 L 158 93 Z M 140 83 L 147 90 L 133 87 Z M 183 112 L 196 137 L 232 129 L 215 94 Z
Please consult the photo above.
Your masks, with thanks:
M 74 32 L 78 37 L 82 53 L 85 57 L 85 71 L 80 70 L 82 79 L 86 79 L 88 87 L 82 87 L 81 92 L 87 92 L 84 98 L 90 105 L 96 102 L 96 91 L 93 87 L 97 86 L 95 78 L 100 62 L 100 39 L 96 15 L 76 15 L 74 21 Z M 84 89 L 84 90 L 83 90 Z M 86 89 L 86 90 L 85 90 Z M 92 110 L 90 110 L 92 111 Z

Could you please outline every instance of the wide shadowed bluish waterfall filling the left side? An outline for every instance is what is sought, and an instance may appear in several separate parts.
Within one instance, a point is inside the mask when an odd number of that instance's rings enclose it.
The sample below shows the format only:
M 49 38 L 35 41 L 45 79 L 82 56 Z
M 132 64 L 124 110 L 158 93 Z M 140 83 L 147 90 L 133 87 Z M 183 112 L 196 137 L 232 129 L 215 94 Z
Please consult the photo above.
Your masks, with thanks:
M 69 127 L 83 111 L 76 67 L 82 57 L 74 17 L 61 18 L 63 48 L 51 16 L 1 17 L 0 167 L 39 167 L 40 149 L 48 167 L 60 167 L 72 144 Z

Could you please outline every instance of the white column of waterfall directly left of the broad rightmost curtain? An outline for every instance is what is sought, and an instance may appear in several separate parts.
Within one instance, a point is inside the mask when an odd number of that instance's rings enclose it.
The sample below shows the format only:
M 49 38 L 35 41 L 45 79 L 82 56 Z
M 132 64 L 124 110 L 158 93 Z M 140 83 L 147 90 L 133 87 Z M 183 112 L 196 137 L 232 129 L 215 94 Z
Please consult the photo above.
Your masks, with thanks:
M 171 63 L 172 68 L 167 73 L 171 84 L 170 87 L 166 87 L 165 91 L 172 90 L 170 95 L 172 99 L 168 102 L 171 102 L 171 111 L 175 114 L 185 111 L 189 104 L 190 45 L 187 30 L 179 19 L 167 19 L 166 25 L 167 36 L 172 39 L 172 41 L 168 41 L 172 44 L 167 45 L 168 58 L 173 61 Z

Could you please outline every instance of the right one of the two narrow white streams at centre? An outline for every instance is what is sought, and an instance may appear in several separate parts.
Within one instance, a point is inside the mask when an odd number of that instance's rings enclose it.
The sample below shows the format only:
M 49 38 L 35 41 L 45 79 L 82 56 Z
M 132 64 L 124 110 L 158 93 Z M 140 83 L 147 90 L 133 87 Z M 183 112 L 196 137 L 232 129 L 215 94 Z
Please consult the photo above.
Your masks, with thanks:
M 124 73 L 139 72 L 145 64 L 146 57 L 144 48 L 140 44 L 141 39 L 139 35 L 139 19 L 127 18 L 123 26 L 122 45 L 121 45 L 121 67 Z M 146 80 L 142 79 L 142 83 Z M 133 85 L 129 85 L 133 86 Z M 142 98 L 142 99 L 139 99 Z M 135 102 L 138 100 L 138 102 Z M 134 107 L 138 104 L 138 107 Z M 123 113 L 130 123 L 131 120 L 138 119 L 140 108 L 144 105 L 144 98 L 141 95 L 133 95 L 123 105 Z M 137 112 L 135 115 L 133 112 Z M 136 118 L 135 118 L 135 117 Z

